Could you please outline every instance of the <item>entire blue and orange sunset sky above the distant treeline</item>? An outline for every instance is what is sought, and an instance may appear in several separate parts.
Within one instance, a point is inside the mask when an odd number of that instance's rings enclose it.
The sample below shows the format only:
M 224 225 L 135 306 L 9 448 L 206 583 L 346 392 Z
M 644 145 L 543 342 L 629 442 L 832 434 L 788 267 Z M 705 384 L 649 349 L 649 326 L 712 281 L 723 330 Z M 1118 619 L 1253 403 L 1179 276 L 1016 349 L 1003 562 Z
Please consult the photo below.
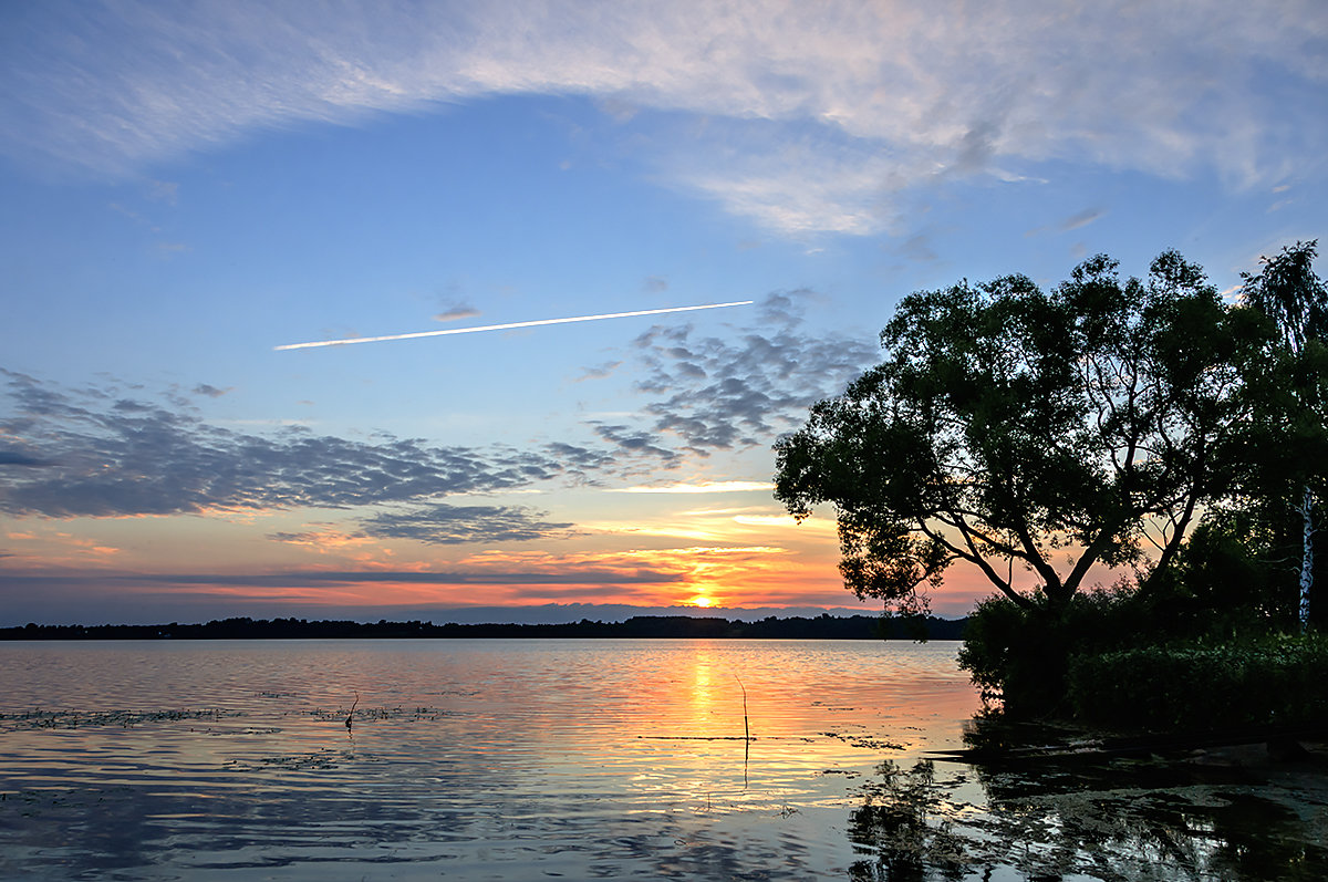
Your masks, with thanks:
M 772 445 L 902 296 L 1328 242 L 1321 0 L 8 0 L 0 84 L 0 626 L 872 614 Z

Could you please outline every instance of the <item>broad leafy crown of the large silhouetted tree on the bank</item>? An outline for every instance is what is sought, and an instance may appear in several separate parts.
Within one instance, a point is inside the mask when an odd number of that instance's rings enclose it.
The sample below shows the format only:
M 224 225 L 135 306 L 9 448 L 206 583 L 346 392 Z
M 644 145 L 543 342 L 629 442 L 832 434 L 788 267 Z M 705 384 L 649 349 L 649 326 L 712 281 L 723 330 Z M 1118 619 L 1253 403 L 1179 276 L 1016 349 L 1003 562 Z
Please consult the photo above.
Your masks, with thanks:
M 1272 333 L 1174 251 L 1142 280 L 1100 255 L 1049 291 L 912 294 L 883 363 L 778 441 L 776 498 L 799 519 L 833 503 L 846 586 L 900 611 L 955 561 L 1021 606 L 1094 565 L 1165 570 L 1244 480 L 1243 369 Z

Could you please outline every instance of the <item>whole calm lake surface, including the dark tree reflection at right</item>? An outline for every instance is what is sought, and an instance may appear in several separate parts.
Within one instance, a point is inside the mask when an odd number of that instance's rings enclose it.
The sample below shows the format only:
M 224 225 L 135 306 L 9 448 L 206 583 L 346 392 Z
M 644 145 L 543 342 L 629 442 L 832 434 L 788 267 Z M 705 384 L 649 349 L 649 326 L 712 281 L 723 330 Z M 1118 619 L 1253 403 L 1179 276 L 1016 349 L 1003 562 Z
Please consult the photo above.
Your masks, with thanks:
M 1328 878 L 1313 768 L 932 761 L 956 648 L 0 644 L 0 877 Z

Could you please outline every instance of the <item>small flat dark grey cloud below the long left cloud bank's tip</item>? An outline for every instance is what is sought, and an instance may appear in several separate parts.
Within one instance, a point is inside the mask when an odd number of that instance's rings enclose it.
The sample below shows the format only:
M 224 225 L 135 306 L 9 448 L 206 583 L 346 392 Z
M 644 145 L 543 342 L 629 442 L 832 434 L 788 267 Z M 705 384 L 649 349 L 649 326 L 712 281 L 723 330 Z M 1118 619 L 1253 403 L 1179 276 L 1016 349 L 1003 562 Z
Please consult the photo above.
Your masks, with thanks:
M 525 506 L 434 503 L 408 511 L 380 511 L 360 521 L 360 533 L 377 539 L 414 539 L 429 545 L 530 542 L 567 538 L 571 523 L 544 521 Z

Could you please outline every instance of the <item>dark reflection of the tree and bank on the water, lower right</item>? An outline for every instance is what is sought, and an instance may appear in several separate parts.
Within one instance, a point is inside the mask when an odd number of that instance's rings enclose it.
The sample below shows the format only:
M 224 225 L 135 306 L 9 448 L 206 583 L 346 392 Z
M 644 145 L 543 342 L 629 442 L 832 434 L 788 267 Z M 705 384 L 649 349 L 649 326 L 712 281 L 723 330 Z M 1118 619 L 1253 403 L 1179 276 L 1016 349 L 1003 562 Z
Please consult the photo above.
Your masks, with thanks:
M 983 721 L 965 740 L 989 748 L 1046 735 Z M 861 854 L 850 878 L 1328 878 L 1328 760 L 1317 749 L 1299 761 L 1272 760 L 1263 744 L 996 756 L 878 766 L 849 818 Z

